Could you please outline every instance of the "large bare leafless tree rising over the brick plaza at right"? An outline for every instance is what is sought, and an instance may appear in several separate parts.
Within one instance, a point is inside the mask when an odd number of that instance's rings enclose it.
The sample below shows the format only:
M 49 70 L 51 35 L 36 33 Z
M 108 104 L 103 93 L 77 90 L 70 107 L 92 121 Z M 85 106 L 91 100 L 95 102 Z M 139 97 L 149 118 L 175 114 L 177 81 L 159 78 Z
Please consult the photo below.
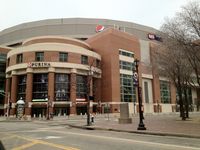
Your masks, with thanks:
M 167 18 L 161 27 L 161 35 L 163 43 L 157 55 L 160 57 L 158 62 L 177 88 L 181 116 L 184 117 L 184 104 L 188 113 L 186 88 L 193 86 L 199 90 L 200 87 L 199 3 L 189 2 L 174 18 Z

